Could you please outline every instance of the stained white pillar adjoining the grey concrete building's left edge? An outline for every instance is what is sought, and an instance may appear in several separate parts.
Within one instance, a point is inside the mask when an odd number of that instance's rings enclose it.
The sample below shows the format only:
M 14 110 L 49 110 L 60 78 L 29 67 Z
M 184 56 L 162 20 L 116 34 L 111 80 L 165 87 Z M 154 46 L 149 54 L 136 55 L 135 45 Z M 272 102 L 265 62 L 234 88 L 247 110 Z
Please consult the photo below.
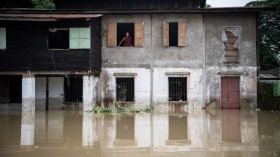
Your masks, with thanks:
M 92 111 L 96 104 L 96 85 L 98 78 L 92 75 L 83 76 L 83 110 Z

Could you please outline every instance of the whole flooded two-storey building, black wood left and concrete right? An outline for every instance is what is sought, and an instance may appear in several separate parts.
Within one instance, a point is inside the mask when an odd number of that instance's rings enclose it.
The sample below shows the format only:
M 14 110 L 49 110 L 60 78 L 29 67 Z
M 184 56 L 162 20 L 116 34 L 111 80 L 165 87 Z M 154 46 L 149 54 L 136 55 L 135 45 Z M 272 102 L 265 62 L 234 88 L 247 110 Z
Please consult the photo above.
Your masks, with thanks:
M 256 107 L 261 9 L 54 2 L 56 10 L 0 9 L 1 108 Z

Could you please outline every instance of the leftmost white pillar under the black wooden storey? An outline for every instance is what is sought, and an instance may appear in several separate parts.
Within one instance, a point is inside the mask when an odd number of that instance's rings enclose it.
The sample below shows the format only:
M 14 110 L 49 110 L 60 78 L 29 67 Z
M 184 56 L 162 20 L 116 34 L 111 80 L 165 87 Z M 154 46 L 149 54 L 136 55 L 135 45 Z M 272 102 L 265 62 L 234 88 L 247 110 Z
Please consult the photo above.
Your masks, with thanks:
M 35 77 L 33 74 L 22 76 L 22 111 L 35 111 Z

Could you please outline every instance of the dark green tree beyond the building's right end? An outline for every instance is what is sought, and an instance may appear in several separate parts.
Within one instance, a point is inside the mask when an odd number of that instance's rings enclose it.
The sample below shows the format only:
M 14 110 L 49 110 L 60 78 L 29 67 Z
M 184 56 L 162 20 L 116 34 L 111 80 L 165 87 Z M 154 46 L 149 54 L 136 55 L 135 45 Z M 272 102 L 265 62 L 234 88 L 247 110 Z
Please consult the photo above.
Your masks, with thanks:
M 280 67 L 280 0 L 252 1 L 246 7 L 276 7 L 275 12 L 259 16 L 259 51 L 261 70 Z

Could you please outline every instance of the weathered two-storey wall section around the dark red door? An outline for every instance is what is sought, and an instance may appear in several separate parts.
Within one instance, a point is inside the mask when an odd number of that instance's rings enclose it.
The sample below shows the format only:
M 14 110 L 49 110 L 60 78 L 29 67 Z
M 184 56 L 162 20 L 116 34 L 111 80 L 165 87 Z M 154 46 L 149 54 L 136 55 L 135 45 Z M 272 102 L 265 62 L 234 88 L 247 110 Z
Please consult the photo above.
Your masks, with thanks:
M 206 106 L 220 108 L 221 77 L 238 74 L 240 77 L 241 108 L 257 105 L 257 56 L 255 14 L 224 13 L 206 14 Z M 239 63 L 224 64 L 224 49 L 221 40 L 224 26 L 241 26 Z M 222 73 L 222 74 L 219 74 Z

